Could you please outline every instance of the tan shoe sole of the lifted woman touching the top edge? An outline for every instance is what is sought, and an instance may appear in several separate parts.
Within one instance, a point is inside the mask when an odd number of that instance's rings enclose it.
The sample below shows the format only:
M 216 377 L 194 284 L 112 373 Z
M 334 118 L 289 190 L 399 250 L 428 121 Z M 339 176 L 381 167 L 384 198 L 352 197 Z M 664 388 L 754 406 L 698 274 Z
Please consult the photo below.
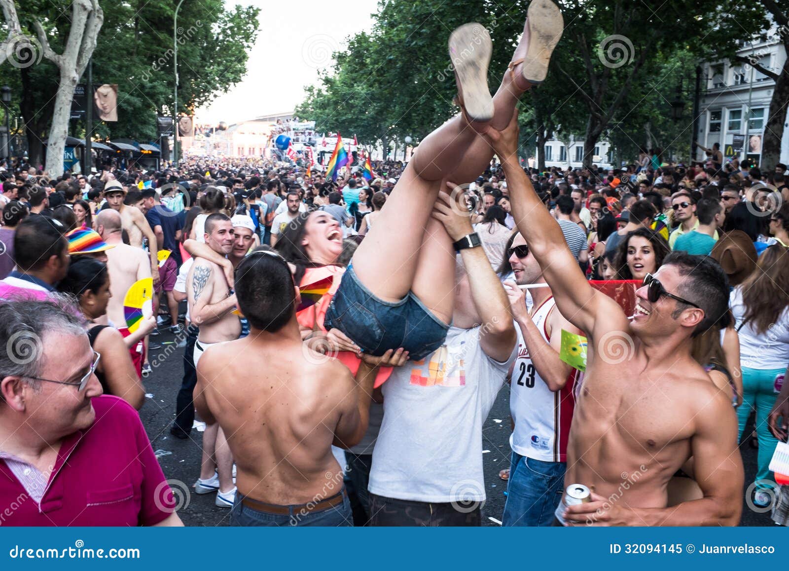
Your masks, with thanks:
M 533 0 L 526 17 L 529 24 L 529 49 L 521 73 L 530 84 L 540 85 L 548 75 L 548 62 L 564 32 L 564 18 L 559 6 L 551 0 Z

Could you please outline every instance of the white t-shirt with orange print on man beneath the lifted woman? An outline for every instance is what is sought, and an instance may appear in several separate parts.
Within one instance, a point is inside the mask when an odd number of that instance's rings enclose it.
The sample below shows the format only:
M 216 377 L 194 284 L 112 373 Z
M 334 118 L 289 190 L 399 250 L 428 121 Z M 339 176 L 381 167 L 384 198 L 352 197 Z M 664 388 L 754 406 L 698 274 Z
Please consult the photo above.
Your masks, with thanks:
M 480 329 L 450 327 L 424 361 L 395 369 L 382 386 L 383 424 L 369 490 L 413 502 L 485 499 L 482 423 L 515 358 L 484 354 Z

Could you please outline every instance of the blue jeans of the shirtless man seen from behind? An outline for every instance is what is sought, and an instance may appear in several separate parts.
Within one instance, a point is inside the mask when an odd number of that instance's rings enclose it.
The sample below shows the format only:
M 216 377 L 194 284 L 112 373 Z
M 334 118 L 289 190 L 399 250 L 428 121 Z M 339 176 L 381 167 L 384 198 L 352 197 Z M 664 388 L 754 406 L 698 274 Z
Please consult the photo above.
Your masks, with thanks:
M 350 511 L 350 500 L 345 488 L 339 494 L 342 494 L 342 502 L 320 511 L 307 511 L 303 509 L 303 505 L 277 505 L 274 507 L 286 508 L 288 513 L 267 513 L 264 508 L 267 504 L 256 502 L 264 509 L 250 508 L 242 503 L 245 496 L 237 492 L 233 509 L 230 510 L 230 525 L 268 528 L 353 526 L 353 514 Z

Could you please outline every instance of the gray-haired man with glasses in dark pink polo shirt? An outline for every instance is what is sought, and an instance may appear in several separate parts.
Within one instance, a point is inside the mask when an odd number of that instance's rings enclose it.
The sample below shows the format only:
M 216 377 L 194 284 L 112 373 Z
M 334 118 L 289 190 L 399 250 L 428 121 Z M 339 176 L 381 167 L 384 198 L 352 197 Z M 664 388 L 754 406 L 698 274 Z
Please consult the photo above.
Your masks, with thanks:
M 102 395 L 73 310 L 2 302 L 0 345 L 2 524 L 181 525 L 140 417 Z

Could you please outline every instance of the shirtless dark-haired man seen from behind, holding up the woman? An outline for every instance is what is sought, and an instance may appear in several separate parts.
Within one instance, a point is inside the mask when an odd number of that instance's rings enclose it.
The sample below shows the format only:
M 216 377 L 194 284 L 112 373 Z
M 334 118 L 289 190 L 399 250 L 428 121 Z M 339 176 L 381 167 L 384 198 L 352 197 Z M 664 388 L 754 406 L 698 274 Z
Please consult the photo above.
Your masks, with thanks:
M 251 332 L 205 352 L 195 389 L 197 411 L 222 426 L 236 460 L 231 524 L 288 524 L 289 517 L 291 524 L 309 524 L 318 513 L 335 518 L 320 524 L 348 524 L 331 445 L 348 448 L 361 440 L 377 365 L 402 365 L 406 358 L 399 350 L 366 357 L 355 381 L 346 366 L 302 344 L 297 288 L 282 258 L 255 252 L 236 276 Z M 253 516 L 245 515 L 249 510 Z

